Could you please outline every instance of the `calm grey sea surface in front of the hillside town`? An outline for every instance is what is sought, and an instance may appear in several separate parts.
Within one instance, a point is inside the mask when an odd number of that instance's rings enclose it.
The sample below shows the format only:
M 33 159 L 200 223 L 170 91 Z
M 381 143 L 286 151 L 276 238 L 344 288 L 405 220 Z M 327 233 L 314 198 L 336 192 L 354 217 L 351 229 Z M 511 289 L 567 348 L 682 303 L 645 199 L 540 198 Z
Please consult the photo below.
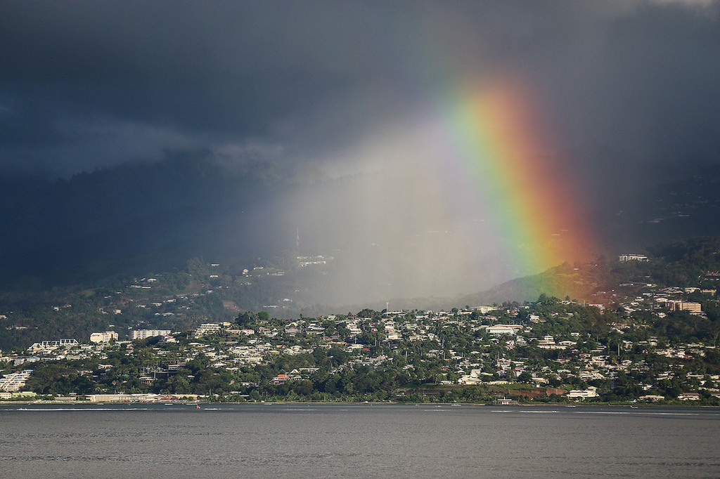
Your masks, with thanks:
M 2 478 L 719 478 L 720 410 L 0 405 Z

